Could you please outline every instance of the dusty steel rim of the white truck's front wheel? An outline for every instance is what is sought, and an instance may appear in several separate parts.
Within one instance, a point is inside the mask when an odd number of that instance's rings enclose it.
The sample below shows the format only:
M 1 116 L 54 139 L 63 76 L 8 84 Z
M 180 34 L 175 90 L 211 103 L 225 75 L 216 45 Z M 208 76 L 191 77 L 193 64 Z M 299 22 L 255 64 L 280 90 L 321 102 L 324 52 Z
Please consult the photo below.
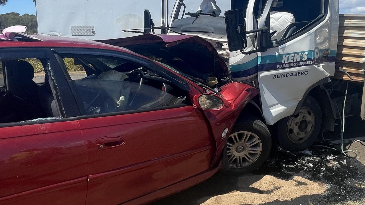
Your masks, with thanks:
M 313 133 L 315 116 L 312 109 L 301 107 L 299 113 L 289 117 L 287 133 L 289 139 L 296 144 L 305 142 Z

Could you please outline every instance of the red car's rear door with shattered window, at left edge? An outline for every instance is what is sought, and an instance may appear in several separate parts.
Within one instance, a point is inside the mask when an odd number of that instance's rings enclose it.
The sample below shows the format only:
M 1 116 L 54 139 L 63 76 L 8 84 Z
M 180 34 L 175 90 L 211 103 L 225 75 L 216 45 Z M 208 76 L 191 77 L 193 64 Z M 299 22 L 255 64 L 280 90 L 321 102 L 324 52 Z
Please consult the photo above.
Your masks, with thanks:
M 0 58 L 3 62 L 42 59 L 47 62 L 48 74 L 55 68 L 52 67 L 54 60 L 46 49 L 1 49 Z M 3 65 L 6 65 L 4 76 L 15 79 L 13 68 L 8 67 L 7 63 Z M 5 82 L 11 81 L 7 77 Z M 3 93 L 9 96 L 6 99 L 10 99 L 14 90 L 6 84 L 3 86 L 6 92 Z M 50 84 L 53 93 L 59 93 L 53 85 Z M 63 98 L 58 96 L 55 99 Z M 34 109 L 28 107 L 26 101 L 19 102 L 22 107 L 14 108 L 14 101 L 7 100 L 0 105 L 4 110 L 11 111 L 0 113 L 3 119 L 0 124 L 0 204 L 84 204 L 87 155 L 77 120 L 67 118 L 66 113 L 59 113 L 47 118 L 12 121 L 14 118 L 6 116 L 8 113 Z M 56 103 L 60 105 L 59 100 Z

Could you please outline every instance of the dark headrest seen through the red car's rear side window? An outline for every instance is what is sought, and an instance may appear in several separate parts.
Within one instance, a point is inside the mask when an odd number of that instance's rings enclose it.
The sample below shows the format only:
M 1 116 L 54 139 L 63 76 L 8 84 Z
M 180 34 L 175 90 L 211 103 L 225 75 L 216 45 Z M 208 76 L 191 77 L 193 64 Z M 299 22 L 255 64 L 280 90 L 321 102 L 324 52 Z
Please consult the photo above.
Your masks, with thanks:
M 27 61 L 16 61 L 11 63 L 11 73 L 15 78 L 31 81 L 34 78 L 34 68 Z

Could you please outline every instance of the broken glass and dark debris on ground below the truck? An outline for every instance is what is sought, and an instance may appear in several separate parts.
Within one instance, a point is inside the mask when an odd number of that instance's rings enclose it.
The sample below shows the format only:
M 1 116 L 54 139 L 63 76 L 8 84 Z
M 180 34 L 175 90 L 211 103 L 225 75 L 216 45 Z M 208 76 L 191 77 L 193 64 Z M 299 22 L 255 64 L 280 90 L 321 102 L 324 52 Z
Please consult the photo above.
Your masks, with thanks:
M 282 167 L 281 171 L 270 173 L 273 176 L 290 179 L 291 173 L 295 173 L 325 183 L 327 193 L 318 204 L 344 199 L 361 200 L 365 196 L 365 186 L 361 186 L 365 182 L 365 167 L 356 159 L 336 154 L 332 150 L 313 148 L 310 157 L 302 151 L 294 158 L 279 149 L 278 154 L 268 160 L 268 166 L 276 169 L 280 164 Z

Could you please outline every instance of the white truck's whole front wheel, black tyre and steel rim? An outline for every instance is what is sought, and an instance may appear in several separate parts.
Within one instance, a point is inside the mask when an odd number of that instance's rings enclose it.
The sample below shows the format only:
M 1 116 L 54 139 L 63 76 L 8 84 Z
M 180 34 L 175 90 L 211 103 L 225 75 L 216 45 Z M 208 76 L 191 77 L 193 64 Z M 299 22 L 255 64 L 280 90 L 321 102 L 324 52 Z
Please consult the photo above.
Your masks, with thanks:
M 317 140 L 322 126 L 322 110 L 316 99 L 307 96 L 299 113 L 278 122 L 278 142 L 284 150 L 302 151 Z

